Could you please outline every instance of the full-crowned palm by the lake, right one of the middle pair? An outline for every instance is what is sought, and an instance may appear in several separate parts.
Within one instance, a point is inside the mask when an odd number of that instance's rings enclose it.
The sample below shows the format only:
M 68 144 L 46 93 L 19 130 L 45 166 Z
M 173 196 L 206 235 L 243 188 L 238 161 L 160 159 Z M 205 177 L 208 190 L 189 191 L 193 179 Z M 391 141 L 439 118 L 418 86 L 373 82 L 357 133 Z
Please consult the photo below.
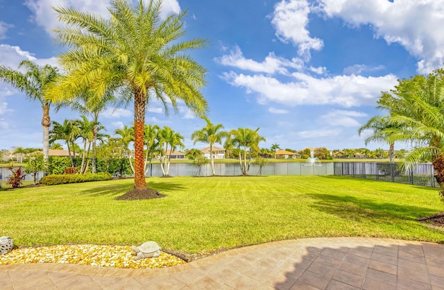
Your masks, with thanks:
M 252 151 L 259 149 L 259 142 L 266 141 L 266 139 L 259 134 L 256 130 L 250 128 L 238 128 L 237 130 L 231 130 L 227 139 L 228 145 L 232 148 L 238 148 L 241 151 L 239 154 L 239 166 L 241 167 L 241 173 L 244 176 L 248 175 L 250 171 Z M 247 164 L 247 152 L 248 152 L 248 164 Z M 243 158 L 242 158 L 243 156 Z

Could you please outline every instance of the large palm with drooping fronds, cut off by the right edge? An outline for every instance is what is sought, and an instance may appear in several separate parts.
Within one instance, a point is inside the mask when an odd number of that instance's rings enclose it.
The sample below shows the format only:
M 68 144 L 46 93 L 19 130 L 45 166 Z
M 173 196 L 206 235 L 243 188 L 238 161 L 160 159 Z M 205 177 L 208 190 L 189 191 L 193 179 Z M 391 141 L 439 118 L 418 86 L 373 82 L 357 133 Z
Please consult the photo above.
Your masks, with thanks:
M 399 80 L 378 103 L 390 110 L 388 123 L 397 125 L 382 133 L 413 146 L 405 159 L 407 164 L 432 162 L 444 202 L 444 70 Z

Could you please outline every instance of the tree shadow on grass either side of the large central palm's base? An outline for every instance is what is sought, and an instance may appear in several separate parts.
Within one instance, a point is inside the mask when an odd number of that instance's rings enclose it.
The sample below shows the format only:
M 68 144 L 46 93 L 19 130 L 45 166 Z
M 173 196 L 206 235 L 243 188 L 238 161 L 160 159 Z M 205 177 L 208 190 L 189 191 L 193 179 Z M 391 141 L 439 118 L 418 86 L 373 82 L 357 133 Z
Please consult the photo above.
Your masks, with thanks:
M 117 197 L 122 194 L 126 194 L 128 191 L 134 189 L 134 185 L 131 184 L 121 184 L 119 180 L 115 181 L 116 184 L 112 185 L 103 185 L 101 187 L 94 187 L 92 189 L 84 189 L 80 190 L 79 194 L 85 194 L 88 196 L 110 196 Z M 146 183 L 146 186 L 154 189 L 156 191 L 160 191 L 160 193 L 164 194 L 164 191 L 183 191 L 186 189 L 183 185 L 174 182 L 162 182 L 162 183 Z

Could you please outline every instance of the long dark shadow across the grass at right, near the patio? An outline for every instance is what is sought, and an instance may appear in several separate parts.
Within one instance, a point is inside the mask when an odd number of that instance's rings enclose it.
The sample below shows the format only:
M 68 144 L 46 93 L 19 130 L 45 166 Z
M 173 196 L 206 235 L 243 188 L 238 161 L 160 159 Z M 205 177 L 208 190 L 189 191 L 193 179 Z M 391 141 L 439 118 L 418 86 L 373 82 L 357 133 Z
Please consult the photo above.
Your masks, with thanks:
M 368 198 L 355 196 L 334 196 L 330 194 L 307 194 L 317 201 L 311 205 L 316 210 L 334 214 L 352 221 L 374 221 L 378 223 L 402 223 L 418 217 L 436 214 L 436 210 L 414 205 L 377 203 Z

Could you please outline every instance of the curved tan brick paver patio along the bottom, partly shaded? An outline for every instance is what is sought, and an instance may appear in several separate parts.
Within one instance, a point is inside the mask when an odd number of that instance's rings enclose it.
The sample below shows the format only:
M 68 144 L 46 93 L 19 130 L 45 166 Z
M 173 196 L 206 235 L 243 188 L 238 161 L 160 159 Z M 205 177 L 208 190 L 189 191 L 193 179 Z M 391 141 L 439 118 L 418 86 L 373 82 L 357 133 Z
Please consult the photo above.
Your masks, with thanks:
M 237 248 L 170 268 L 3 265 L 0 289 L 444 290 L 444 245 L 316 238 Z

